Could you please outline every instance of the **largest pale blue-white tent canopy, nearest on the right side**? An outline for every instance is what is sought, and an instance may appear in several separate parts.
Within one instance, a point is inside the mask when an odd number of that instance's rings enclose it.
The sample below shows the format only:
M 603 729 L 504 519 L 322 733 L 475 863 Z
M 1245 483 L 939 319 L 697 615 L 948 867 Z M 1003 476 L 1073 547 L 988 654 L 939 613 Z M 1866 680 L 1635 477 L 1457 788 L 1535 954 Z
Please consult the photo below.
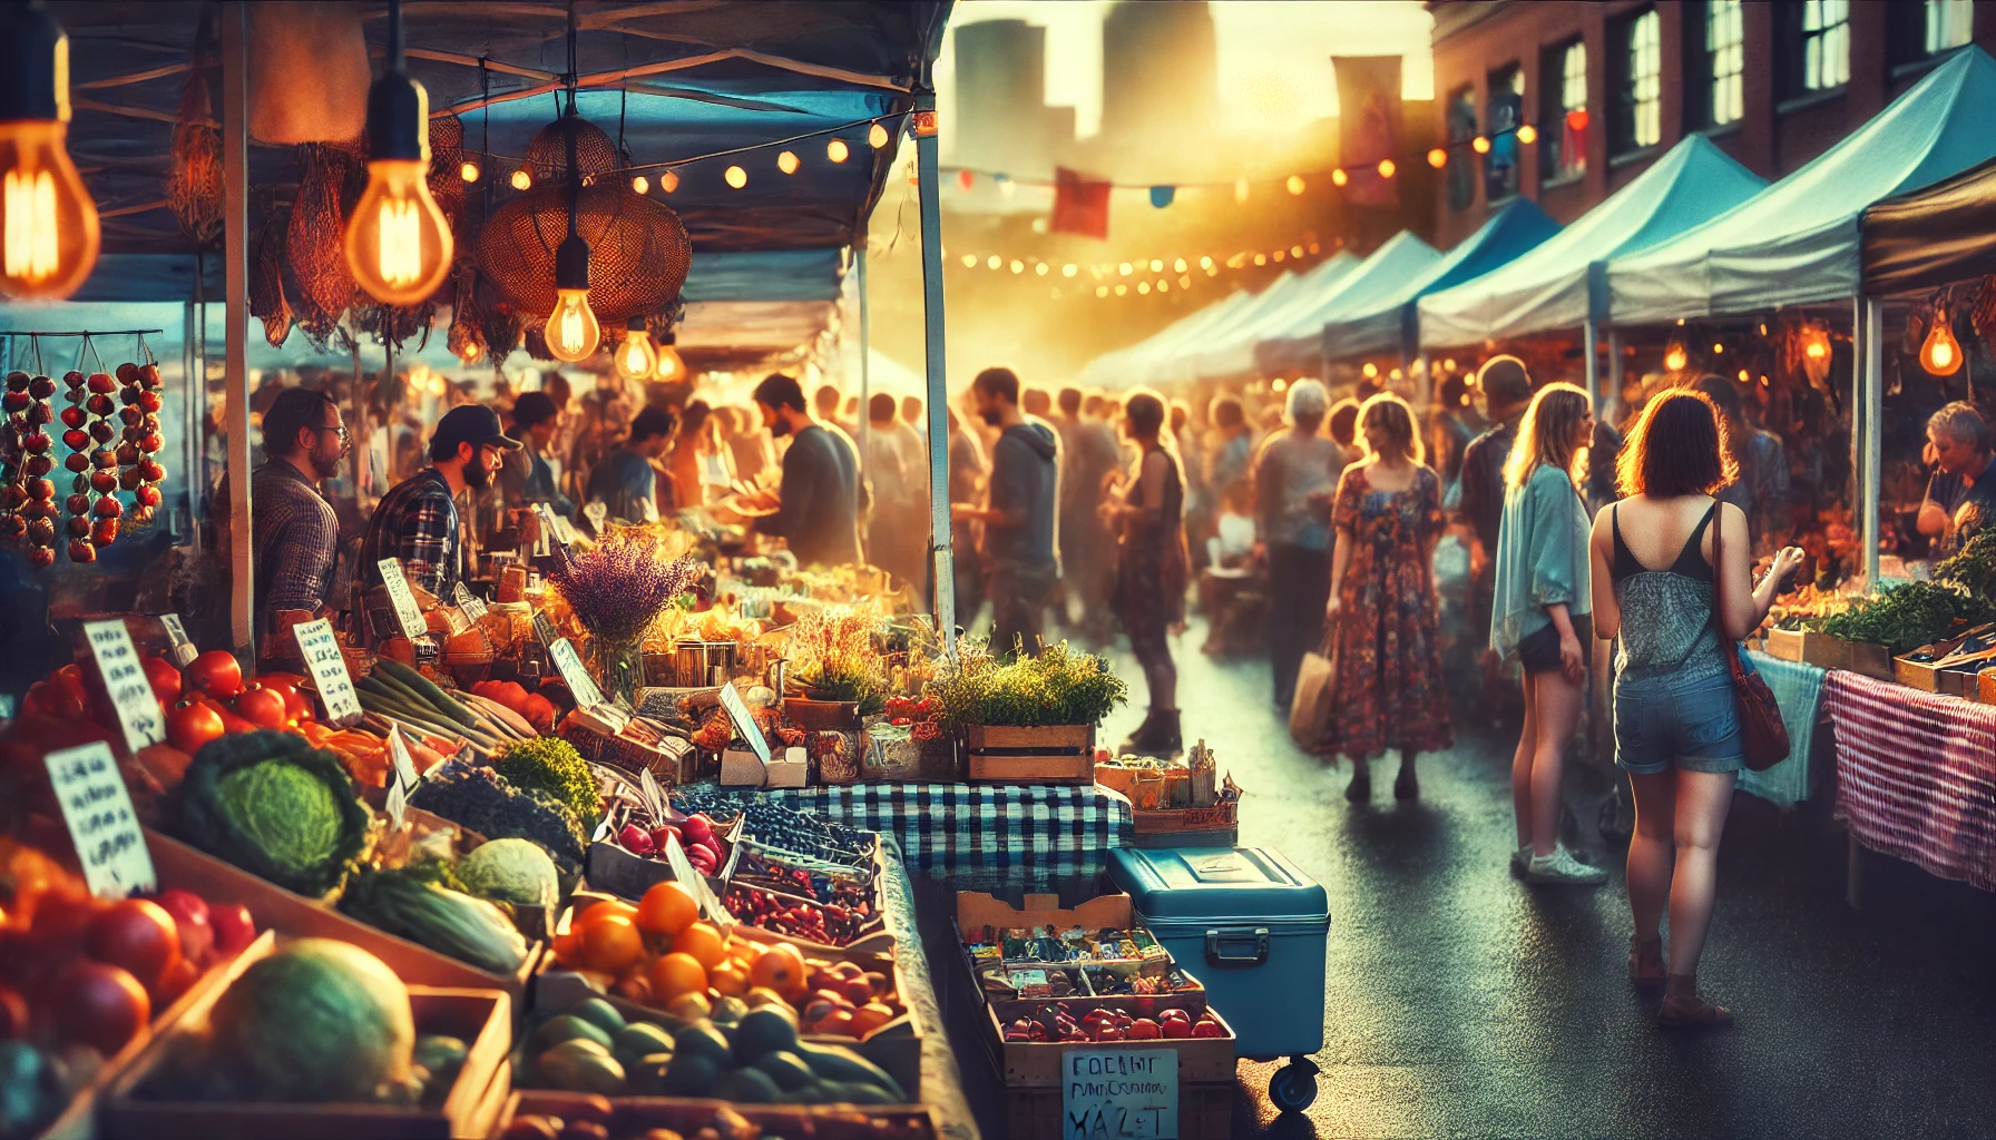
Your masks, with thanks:
M 1962 48 L 1808 166 L 1689 234 L 1609 262 L 1609 319 L 1661 323 L 1848 299 L 1858 220 L 1996 156 L 1996 60 Z

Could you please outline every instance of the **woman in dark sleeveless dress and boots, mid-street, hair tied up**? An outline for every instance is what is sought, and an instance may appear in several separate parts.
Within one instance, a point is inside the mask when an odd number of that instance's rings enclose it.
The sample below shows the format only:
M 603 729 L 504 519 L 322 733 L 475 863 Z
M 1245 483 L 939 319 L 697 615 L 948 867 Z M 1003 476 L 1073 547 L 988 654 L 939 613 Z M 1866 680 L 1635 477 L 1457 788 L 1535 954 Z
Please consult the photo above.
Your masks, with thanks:
M 1140 457 L 1124 487 L 1102 503 L 1102 519 L 1116 533 L 1116 587 L 1110 605 L 1130 635 L 1130 651 L 1144 667 L 1150 689 L 1150 713 L 1124 741 L 1124 751 L 1172 757 L 1184 751 L 1170 633 L 1186 621 L 1192 577 L 1186 555 L 1186 477 L 1178 465 L 1178 447 L 1166 433 L 1164 397 L 1156 391 L 1140 387 L 1124 399 L 1122 431 Z

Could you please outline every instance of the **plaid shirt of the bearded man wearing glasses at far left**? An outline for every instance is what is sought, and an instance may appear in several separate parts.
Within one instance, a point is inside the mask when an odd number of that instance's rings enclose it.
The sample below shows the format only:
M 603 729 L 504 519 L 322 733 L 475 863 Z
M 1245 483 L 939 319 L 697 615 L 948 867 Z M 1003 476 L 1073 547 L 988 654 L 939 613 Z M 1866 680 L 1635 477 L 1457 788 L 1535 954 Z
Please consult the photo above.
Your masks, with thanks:
M 257 635 L 271 631 L 279 609 L 325 607 L 339 557 L 339 519 L 305 473 L 271 459 L 250 479 L 250 535 L 255 557 Z

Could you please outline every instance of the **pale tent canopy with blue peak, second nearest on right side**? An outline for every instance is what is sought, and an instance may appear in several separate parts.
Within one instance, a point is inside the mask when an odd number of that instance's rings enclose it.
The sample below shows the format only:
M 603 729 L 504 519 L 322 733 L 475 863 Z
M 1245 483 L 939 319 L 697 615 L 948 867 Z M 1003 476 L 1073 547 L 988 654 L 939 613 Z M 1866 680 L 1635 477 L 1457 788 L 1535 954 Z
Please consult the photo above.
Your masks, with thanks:
M 1481 343 L 1603 319 L 1591 287 L 1609 258 L 1667 242 L 1766 186 L 1703 134 L 1685 136 L 1629 186 L 1539 248 L 1453 289 L 1421 297 L 1421 347 Z

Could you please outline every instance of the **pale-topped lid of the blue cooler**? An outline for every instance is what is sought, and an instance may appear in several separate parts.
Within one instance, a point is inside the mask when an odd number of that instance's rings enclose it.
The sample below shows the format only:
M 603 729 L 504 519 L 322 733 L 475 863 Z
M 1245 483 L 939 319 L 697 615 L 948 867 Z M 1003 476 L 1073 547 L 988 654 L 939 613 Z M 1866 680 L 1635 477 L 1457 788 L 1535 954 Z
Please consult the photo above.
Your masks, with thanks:
M 1323 886 L 1269 847 L 1116 847 L 1110 876 L 1146 920 L 1329 922 Z

